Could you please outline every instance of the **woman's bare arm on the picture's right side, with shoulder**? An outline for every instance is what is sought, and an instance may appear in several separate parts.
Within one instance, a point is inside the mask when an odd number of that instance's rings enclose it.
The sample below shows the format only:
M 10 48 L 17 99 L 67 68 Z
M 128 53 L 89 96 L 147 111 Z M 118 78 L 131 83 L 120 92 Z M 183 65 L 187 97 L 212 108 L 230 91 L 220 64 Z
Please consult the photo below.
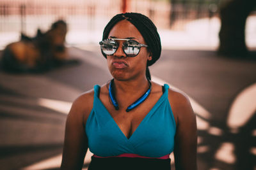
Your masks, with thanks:
M 196 170 L 196 117 L 188 97 L 174 92 L 173 114 L 177 120 L 177 131 L 175 135 L 175 169 Z

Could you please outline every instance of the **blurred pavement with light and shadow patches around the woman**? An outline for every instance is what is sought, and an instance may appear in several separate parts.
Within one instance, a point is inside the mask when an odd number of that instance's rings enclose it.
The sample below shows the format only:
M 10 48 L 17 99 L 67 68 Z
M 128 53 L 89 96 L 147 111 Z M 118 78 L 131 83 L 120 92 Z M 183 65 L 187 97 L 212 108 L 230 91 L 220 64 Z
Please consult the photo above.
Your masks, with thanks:
M 68 52 L 79 64 L 41 74 L 0 71 L 1 169 L 58 169 L 72 101 L 111 79 L 97 46 Z M 198 124 L 198 170 L 256 169 L 255 60 L 165 49 L 150 71 L 154 81 L 190 97 Z

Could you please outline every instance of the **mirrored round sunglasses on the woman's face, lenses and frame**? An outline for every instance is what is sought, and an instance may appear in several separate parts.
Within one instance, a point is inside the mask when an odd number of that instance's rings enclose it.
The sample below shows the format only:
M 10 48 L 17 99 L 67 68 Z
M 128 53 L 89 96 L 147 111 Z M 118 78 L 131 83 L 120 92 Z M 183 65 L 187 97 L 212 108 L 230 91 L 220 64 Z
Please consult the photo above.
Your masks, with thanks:
M 135 57 L 138 55 L 138 53 L 140 53 L 141 46 L 147 47 L 147 45 L 138 43 L 133 39 L 108 38 L 99 42 L 102 53 L 105 55 L 113 55 L 119 46 L 119 43 L 115 40 L 124 41 L 122 44 L 122 49 L 127 57 Z

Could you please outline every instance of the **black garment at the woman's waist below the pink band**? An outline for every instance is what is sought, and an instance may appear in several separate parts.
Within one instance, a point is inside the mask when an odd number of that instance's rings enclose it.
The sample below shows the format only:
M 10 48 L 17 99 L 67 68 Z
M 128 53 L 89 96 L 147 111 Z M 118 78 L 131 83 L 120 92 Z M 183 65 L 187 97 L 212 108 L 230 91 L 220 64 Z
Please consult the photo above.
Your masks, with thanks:
M 98 158 L 92 157 L 92 161 L 88 170 L 170 170 L 170 159 L 144 159 L 144 158 L 131 158 L 131 157 L 109 157 Z

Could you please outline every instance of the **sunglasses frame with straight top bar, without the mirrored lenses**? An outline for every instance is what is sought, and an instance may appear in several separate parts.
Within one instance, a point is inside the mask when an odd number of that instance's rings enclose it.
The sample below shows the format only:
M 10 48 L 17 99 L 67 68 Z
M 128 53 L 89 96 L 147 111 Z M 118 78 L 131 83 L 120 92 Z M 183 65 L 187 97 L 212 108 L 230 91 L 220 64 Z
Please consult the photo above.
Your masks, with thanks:
M 107 40 L 113 40 L 113 41 L 119 40 L 119 41 L 125 41 L 125 42 L 126 42 L 126 41 L 135 41 L 134 39 L 127 39 L 127 38 L 107 38 L 107 39 L 104 39 L 104 40 L 102 40 L 102 41 L 99 42 L 100 50 L 101 50 L 102 53 L 104 53 L 103 50 L 102 50 L 103 42 L 104 42 L 104 41 L 107 41 Z M 125 43 L 125 42 L 124 42 L 124 43 Z M 141 47 L 148 47 L 148 45 L 141 44 L 141 43 L 139 43 L 138 41 L 136 41 L 136 42 L 138 43 L 138 45 L 139 45 L 140 48 L 141 48 Z M 119 48 L 119 43 L 116 42 L 116 41 L 115 41 L 115 43 L 117 44 L 117 48 L 116 48 L 116 50 L 117 50 L 117 49 Z M 124 51 L 124 43 L 122 43 L 122 49 L 123 49 L 123 52 L 125 53 L 125 51 Z M 136 56 L 140 53 L 140 48 L 139 48 L 139 52 L 138 52 L 136 55 L 127 55 L 127 53 L 125 53 L 125 55 L 126 55 L 127 57 L 136 57 Z M 116 52 L 116 50 L 115 50 L 115 52 Z M 109 54 L 109 55 L 113 55 L 115 52 L 113 52 L 112 54 Z M 104 53 L 104 55 L 107 55 L 107 54 Z

